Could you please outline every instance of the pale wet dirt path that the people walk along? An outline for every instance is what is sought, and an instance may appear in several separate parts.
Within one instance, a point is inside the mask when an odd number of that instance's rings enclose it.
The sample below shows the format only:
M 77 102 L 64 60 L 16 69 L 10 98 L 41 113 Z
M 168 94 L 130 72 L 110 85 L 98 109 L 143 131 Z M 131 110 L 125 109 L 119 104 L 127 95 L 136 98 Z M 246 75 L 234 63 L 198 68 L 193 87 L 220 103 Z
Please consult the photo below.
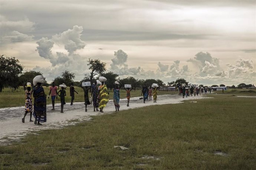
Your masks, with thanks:
M 140 97 L 134 97 L 130 99 L 130 106 L 127 107 L 127 99 L 120 99 L 120 110 L 140 108 L 150 105 L 163 105 L 169 103 L 180 103 L 183 100 L 188 99 L 204 99 L 205 96 L 190 96 L 182 98 L 179 95 L 158 95 L 157 103 L 152 101 L 146 101 L 143 103 L 143 99 Z M 85 112 L 85 105 L 83 102 L 75 102 L 72 106 L 70 103 L 64 105 L 64 113 L 60 113 L 60 103 L 55 104 L 55 110 L 52 109 L 52 105 L 47 105 L 47 122 L 43 125 L 34 125 L 34 122 L 29 122 L 29 113 L 25 118 L 25 123 L 22 123 L 24 116 L 24 106 L 3 108 L 0 109 L 0 145 L 8 145 L 13 140 L 19 140 L 27 133 L 35 133 L 38 130 L 63 128 L 68 125 L 75 125 L 76 123 L 84 120 L 90 120 L 91 116 L 113 113 L 115 106 L 113 100 L 110 100 L 107 106 L 104 108 L 104 113 L 93 112 L 93 106 L 88 105 L 88 112 Z M 32 115 L 32 120 L 35 120 Z

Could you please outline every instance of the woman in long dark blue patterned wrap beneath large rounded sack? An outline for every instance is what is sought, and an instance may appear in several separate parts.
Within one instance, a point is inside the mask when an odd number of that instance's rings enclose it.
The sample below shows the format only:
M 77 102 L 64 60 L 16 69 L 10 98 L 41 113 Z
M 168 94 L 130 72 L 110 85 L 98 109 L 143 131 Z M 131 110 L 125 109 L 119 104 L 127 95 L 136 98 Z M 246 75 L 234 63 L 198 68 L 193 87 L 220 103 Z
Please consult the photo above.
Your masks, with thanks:
M 46 94 L 41 85 L 42 83 L 38 82 L 33 88 L 35 125 L 46 122 Z

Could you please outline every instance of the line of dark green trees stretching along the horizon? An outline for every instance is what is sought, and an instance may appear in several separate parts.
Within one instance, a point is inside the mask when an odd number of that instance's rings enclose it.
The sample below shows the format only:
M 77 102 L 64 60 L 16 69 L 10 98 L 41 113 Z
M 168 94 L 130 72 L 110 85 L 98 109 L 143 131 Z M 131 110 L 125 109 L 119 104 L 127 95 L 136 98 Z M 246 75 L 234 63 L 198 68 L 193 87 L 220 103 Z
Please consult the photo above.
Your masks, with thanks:
M 15 89 L 19 88 L 19 86 L 23 86 L 24 82 L 30 80 L 33 81 L 33 78 L 37 75 L 43 75 L 42 72 L 37 71 L 25 71 L 23 72 L 24 66 L 19 64 L 19 59 L 15 57 L 5 57 L 4 55 L 0 55 L 0 92 L 4 87 L 12 87 Z M 132 76 L 128 76 L 127 78 L 119 78 L 118 74 L 114 72 L 106 72 L 106 63 L 101 62 L 100 59 L 91 59 L 88 60 L 88 69 L 91 71 L 89 74 L 85 74 L 84 78 L 81 81 L 74 81 L 75 73 L 70 72 L 68 70 L 64 70 L 59 76 L 54 78 L 52 81 L 55 82 L 56 85 L 65 83 L 67 86 L 70 86 L 73 82 L 75 86 L 81 86 L 83 81 L 90 81 L 93 84 L 99 76 L 106 77 L 107 81 L 105 84 L 109 89 L 114 87 L 114 82 L 116 79 L 119 79 L 120 82 L 124 84 L 131 84 L 132 87 L 136 90 L 136 88 L 141 88 L 144 84 L 147 86 L 151 86 L 153 83 L 157 83 L 159 86 L 166 86 L 164 82 L 160 79 L 137 79 Z M 188 85 L 188 81 L 184 78 L 177 78 L 175 81 L 167 82 L 168 86 L 181 86 L 182 84 Z M 49 86 L 49 83 L 45 83 L 45 86 Z M 208 87 L 204 85 L 199 85 L 202 87 Z M 218 85 L 212 85 L 212 87 L 216 87 Z M 220 84 L 219 86 L 225 86 L 224 84 Z M 230 86 L 229 88 L 248 88 L 252 86 L 252 84 L 246 85 L 241 83 L 236 86 Z

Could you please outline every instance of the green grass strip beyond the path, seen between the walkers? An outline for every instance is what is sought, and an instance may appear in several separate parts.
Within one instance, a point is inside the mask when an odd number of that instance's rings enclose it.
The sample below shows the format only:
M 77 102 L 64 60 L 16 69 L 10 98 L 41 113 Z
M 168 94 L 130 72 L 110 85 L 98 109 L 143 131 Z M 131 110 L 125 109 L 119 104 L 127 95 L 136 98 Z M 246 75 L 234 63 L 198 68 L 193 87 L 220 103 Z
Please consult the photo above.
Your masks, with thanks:
M 43 87 L 43 88 L 45 89 L 45 93 L 48 96 L 50 91 L 49 87 Z M 84 101 L 83 89 L 81 87 L 75 87 L 75 90 L 78 92 L 78 94 L 75 93 L 75 102 L 83 102 Z M 110 90 L 108 91 L 109 91 L 109 99 L 113 99 L 113 91 L 110 91 Z M 175 94 L 175 93 L 176 92 L 163 92 L 163 91 L 158 92 L 159 95 Z M 141 96 L 141 90 L 136 90 L 136 91 L 132 90 L 131 96 L 132 97 Z M 126 91 L 124 89 L 121 89 L 120 98 L 126 98 Z M 32 101 L 33 101 L 33 98 L 32 98 Z M 71 102 L 69 87 L 66 88 L 65 101 Z M 47 104 L 51 104 L 51 103 L 52 103 L 51 98 L 48 99 L 47 97 Z M 60 98 L 55 99 L 55 103 L 60 103 Z M 24 104 L 25 104 L 25 93 L 22 88 L 19 88 L 14 92 L 12 92 L 9 88 L 4 88 L 3 92 L 0 93 L 0 108 L 22 106 Z

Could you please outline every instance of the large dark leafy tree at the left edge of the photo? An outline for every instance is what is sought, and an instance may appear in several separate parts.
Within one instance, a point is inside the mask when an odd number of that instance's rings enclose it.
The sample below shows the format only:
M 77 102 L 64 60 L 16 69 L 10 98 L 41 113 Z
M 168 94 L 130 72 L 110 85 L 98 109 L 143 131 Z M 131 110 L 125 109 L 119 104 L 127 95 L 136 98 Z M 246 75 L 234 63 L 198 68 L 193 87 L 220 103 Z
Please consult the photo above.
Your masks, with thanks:
M 19 62 L 15 57 L 0 55 L 0 92 L 4 85 L 12 86 L 14 89 L 19 87 L 19 74 L 23 71 L 23 65 Z

